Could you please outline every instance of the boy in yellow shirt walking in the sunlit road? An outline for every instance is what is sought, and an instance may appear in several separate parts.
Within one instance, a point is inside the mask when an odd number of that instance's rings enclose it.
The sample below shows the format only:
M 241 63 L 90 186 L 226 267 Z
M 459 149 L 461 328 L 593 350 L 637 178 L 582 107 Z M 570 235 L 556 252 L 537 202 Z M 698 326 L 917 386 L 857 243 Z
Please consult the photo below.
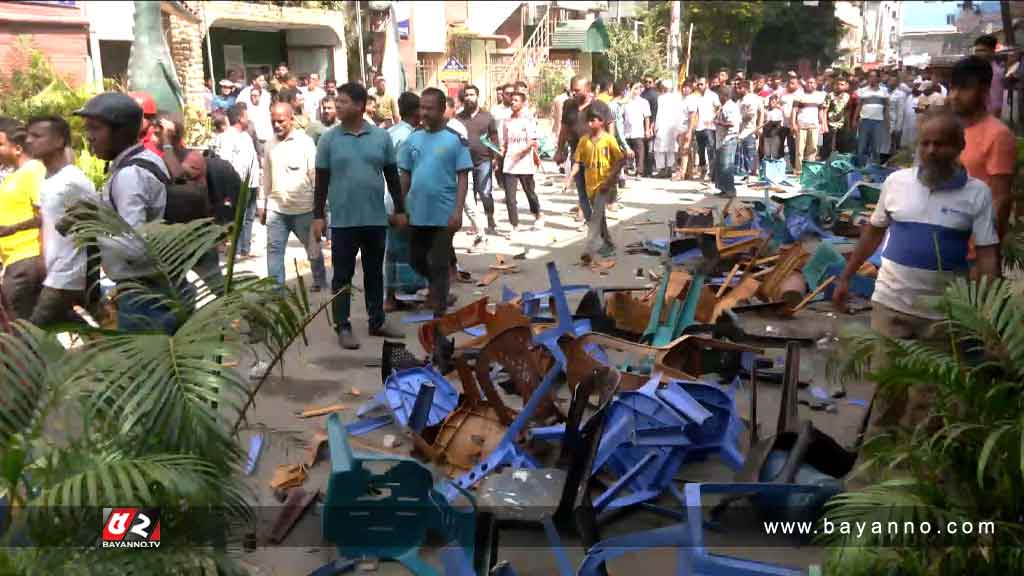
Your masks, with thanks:
M 587 243 L 583 255 L 584 263 L 593 260 L 594 252 L 601 256 L 610 256 L 615 252 L 615 245 L 608 233 L 608 221 L 605 219 L 605 206 L 613 201 L 615 182 L 618 172 L 626 164 L 615 137 L 604 129 L 604 118 L 593 108 L 587 110 L 587 126 L 590 134 L 580 138 L 575 157 L 572 159 L 572 172 L 565 180 L 563 191 L 569 189 L 575 181 L 575 176 L 583 170 L 584 181 L 587 183 L 587 197 L 590 198 L 593 214 L 587 224 Z

